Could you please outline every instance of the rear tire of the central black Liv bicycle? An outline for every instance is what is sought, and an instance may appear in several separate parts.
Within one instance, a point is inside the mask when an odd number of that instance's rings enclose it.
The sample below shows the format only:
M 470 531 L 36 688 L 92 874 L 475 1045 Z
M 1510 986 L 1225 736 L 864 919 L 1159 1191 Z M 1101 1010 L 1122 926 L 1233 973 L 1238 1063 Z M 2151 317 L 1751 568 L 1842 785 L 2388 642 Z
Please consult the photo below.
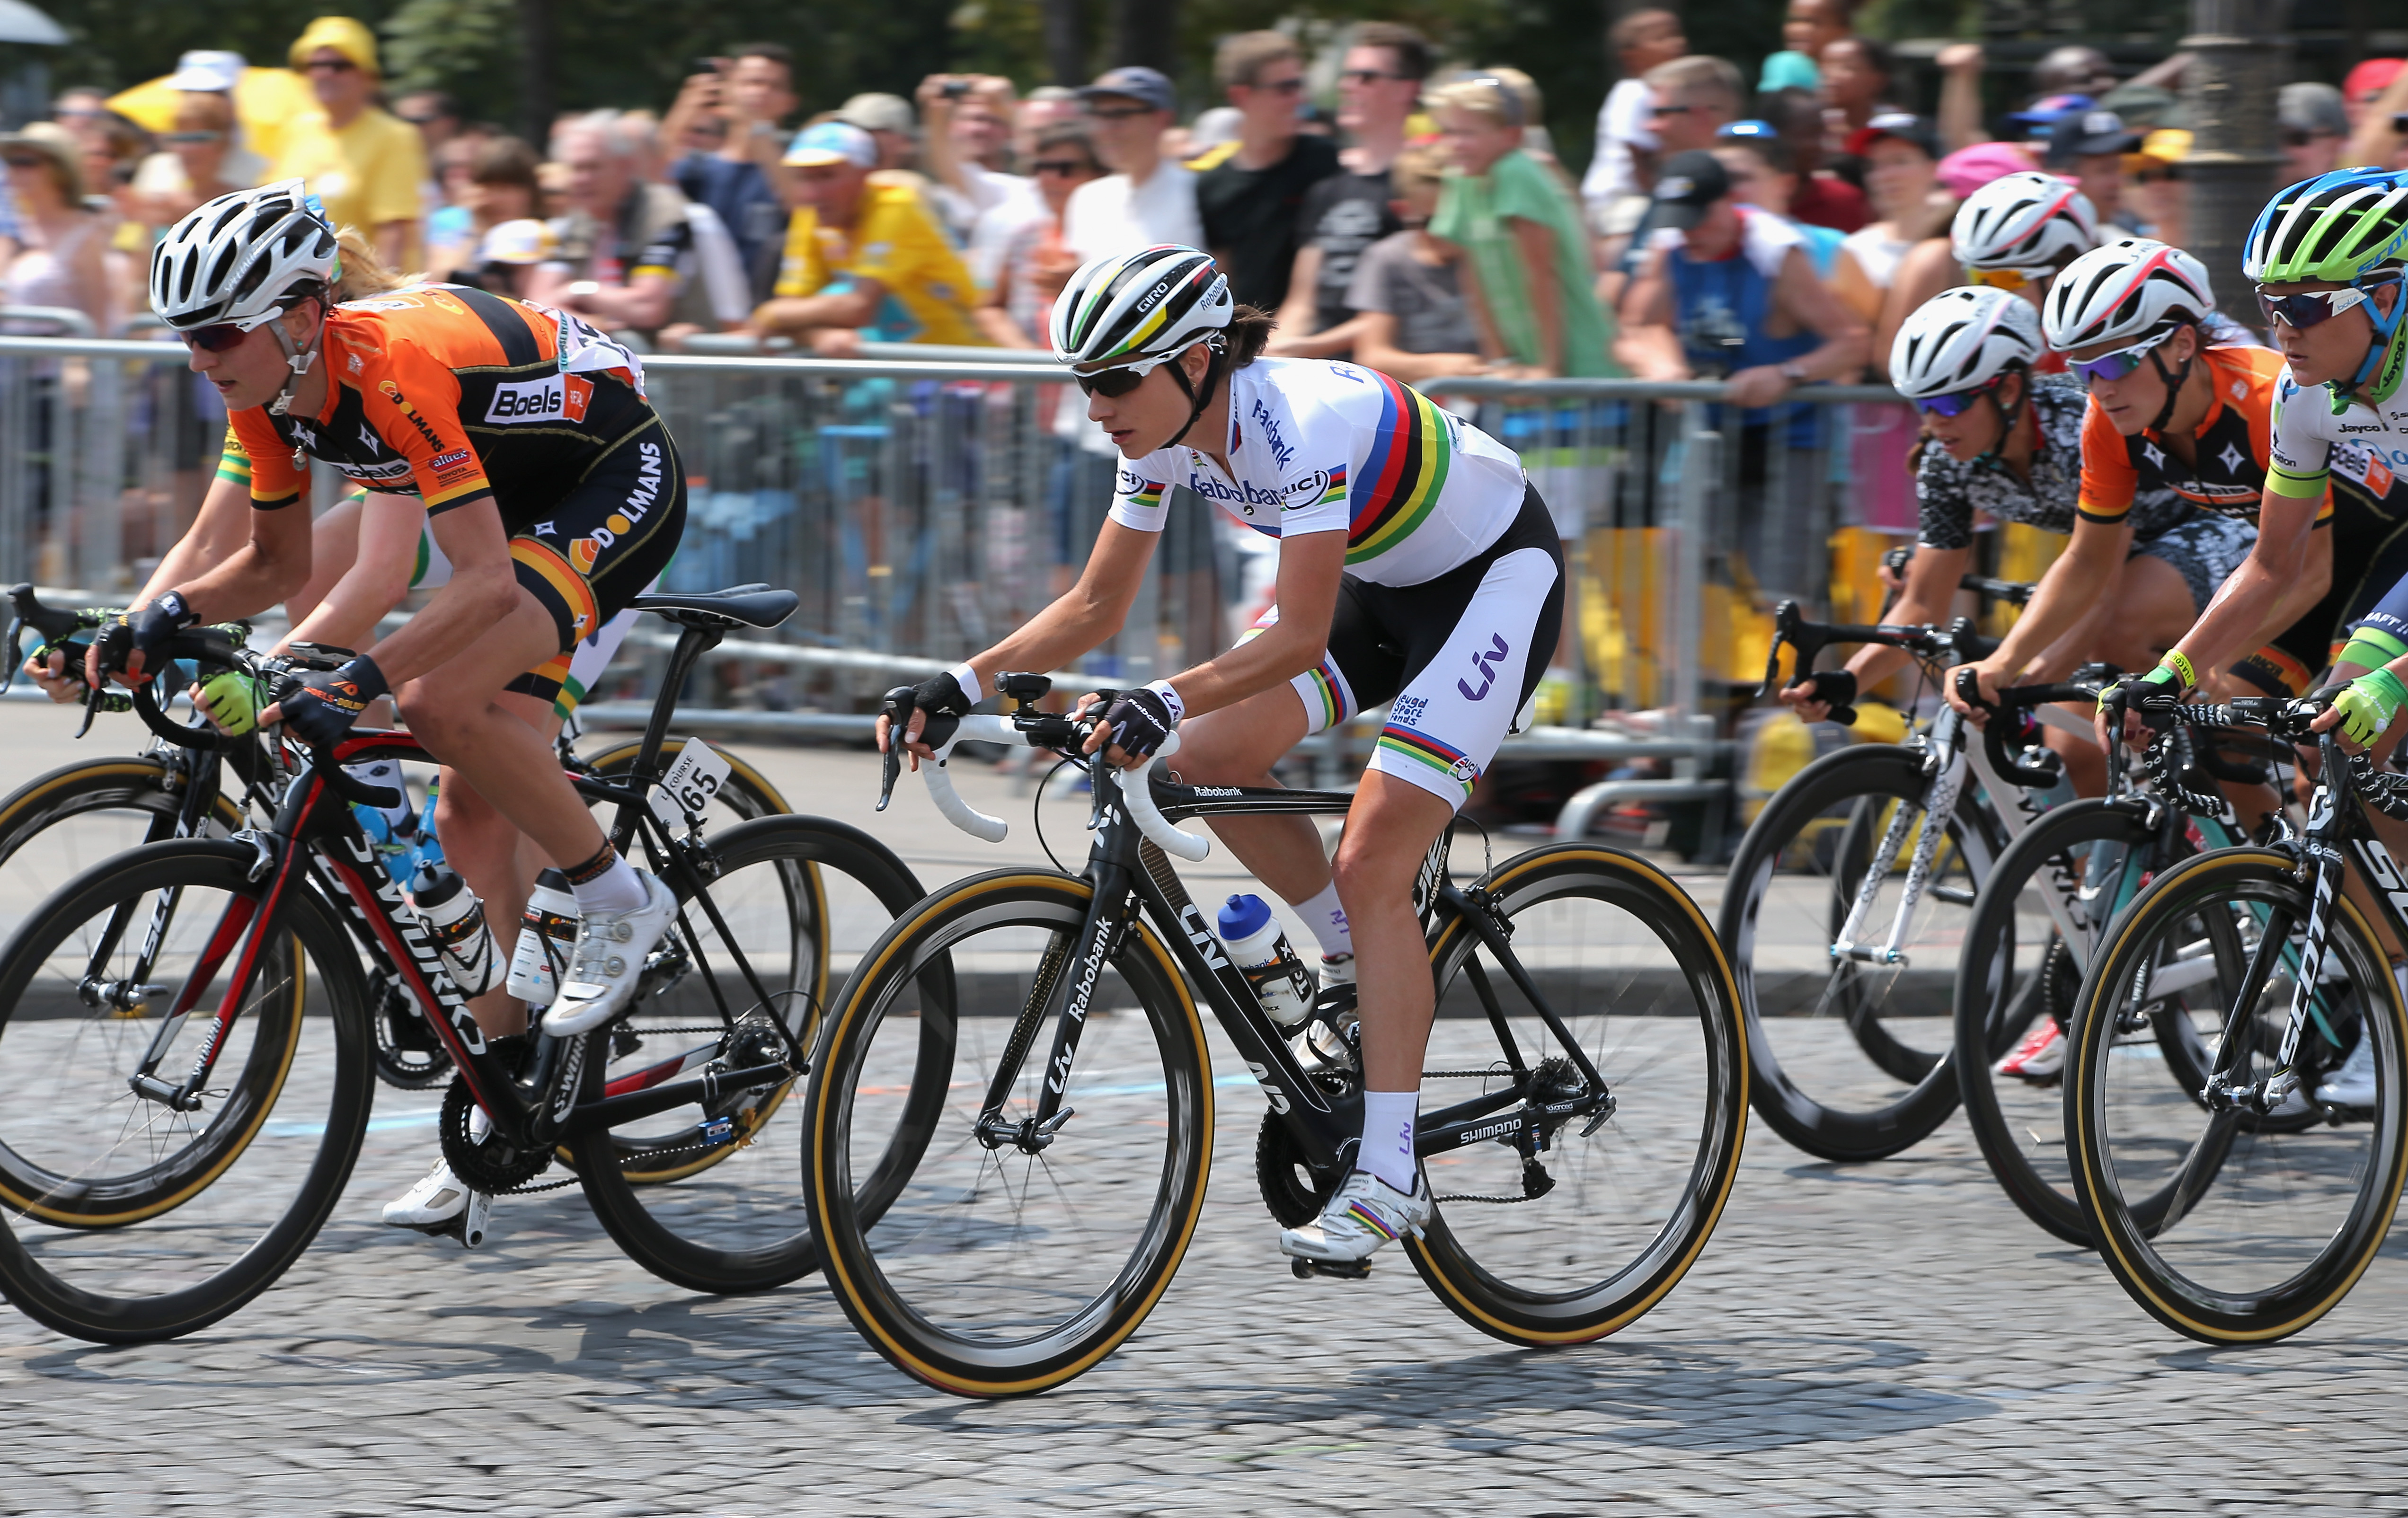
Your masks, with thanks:
M 1705 914 L 1686 890 L 1645 859 L 1594 844 L 1541 847 L 1507 859 L 1466 890 L 1474 900 L 1481 893 L 1507 917 L 1507 926 L 1512 917 L 1563 902 L 1570 895 L 1589 895 L 1611 902 L 1618 912 L 1628 912 L 1671 950 L 1702 1027 L 1702 1126 L 1695 1138 L 1688 1179 L 1681 1188 L 1683 1196 L 1678 1205 L 1669 1208 L 1654 1237 L 1628 1261 L 1611 1261 L 1613 1268 L 1587 1287 L 1539 1289 L 1505 1280 L 1498 1268 L 1474 1258 L 1476 1249 L 1450 1227 L 1445 1205 L 1440 1205 L 1421 1239 L 1406 1239 L 1406 1256 L 1413 1261 L 1421 1280 L 1454 1316 L 1481 1333 L 1515 1345 L 1597 1340 L 1637 1321 L 1681 1282 L 1705 1251 L 1714 1225 L 1722 1220 L 1722 1208 L 1731 1198 L 1731 1184 L 1739 1179 L 1739 1152 L 1748 1128 L 1748 1046 L 1739 1018 L 1739 989 L 1731 984 L 1722 943 L 1707 926 Z M 1440 991 L 1476 948 L 1479 936 L 1462 917 L 1450 917 L 1438 926 L 1430 941 L 1430 965 Z M 1678 998 L 1681 991 L 1659 994 L 1659 1001 L 1676 1003 Z M 1652 1006 L 1647 1010 L 1659 1013 L 1664 1008 Z M 1558 1015 L 1563 1015 L 1563 1008 L 1558 1008 Z M 1681 1010 L 1674 1008 L 1666 1015 L 1678 1020 Z M 1609 1073 L 1606 1049 L 1597 1049 L 1594 1059 L 1599 1073 Z M 1625 1109 L 1649 1102 L 1654 1097 L 1649 1085 L 1652 1080 L 1625 1080 L 1618 1087 Z M 1625 1121 L 1625 1114 L 1618 1111 L 1616 1123 L 1621 1121 Z M 1556 1157 L 1558 1172 L 1575 1169 L 1565 1162 L 1565 1150 L 1572 1143 L 1570 1133 L 1560 1133 L 1556 1145 L 1546 1150 Z M 1681 1150 L 1686 1143 L 1683 1133 L 1674 1133 L 1664 1148 Z M 1645 1150 L 1647 1145 L 1630 1148 Z M 1577 1181 L 1580 1176 L 1572 1179 Z M 1572 1205 L 1575 1212 L 1589 1210 L 1577 1200 Z M 1589 1268 L 1580 1273 L 1587 1275 Z

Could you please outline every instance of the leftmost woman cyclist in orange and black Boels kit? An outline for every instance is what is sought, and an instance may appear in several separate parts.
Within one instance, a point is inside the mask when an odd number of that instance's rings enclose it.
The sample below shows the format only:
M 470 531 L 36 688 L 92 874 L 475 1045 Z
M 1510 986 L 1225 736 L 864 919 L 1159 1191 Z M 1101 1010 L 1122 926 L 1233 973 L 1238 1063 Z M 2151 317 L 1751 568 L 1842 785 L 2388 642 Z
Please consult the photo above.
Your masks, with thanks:
M 551 700 L 513 688 L 563 666 L 660 573 L 684 529 L 684 472 L 643 399 L 641 363 L 576 318 L 462 286 L 340 306 L 337 279 L 335 229 L 301 180 L 222 195 L 154 248 L 152 308 L 226 399 L 250 459 L 250 532 L 224 563 L 106 628 L 87 678 L 142 681 L 176 630 L 299 592 L 313 532 L 291 508 L 308 457 L 371 491 L 414 488 L 450 582 L 409 625 L 306 676 L 260 719 L 327 751 L 393 693 L 445 763 L 445 854 L 489 902 L 496 936 L 515 929 L 539 864 L 568 876 L 583 924 L 547 1027 L 585 1032 L 624 1010 L 674 900 L 609 847 L 561 775 L 542 731 Z M 561 404 L 544 426 L 520 426 L 537 395 Z M 525 840 L 458 828 L 474 808 Z M 470 849 L 472 837 L 494 847 Z M 525 1022 L 518 1003 L 477 1013 L 489 1037 Z M 388 1222 L 441 1229 L 479 1200 L 438 1164 Z

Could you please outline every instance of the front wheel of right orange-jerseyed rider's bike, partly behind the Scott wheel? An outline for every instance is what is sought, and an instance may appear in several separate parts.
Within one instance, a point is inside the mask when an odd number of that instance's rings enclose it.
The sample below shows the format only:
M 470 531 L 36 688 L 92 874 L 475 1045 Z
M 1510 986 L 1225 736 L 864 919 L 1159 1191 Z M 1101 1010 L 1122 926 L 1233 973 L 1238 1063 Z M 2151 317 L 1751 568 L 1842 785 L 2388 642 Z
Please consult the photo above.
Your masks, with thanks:
M 2059 1030 L 2071 1020 L 2100 929 L 2141 876 L 2162 864 L 2146 811 L 2133 801 L 2068 801 L 2032 823 L 1982 883 L 1958 960 L 1955 1073 L 1965 1121 L 2023 1215 L 2083 1249 L 2090 1225 L 2073 1200 L 2056 1078 L 2018 1080 L 1991 1066 L 2042 1018 Z

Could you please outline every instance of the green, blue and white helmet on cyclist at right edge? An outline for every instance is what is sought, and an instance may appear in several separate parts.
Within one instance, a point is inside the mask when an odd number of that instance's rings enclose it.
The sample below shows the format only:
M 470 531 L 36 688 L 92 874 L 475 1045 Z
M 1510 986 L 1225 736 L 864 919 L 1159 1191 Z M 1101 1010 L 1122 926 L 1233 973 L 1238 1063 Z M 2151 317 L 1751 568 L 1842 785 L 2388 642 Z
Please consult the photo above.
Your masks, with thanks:
M 2336 168 L 2283 190 L 2259 212 L 2242 255 L 2242 274 L 2254 284 L 2324 279 L 2365 289 L 2408 274 L 2408 173 L 2391 168 Z M 2408 373 L 2408 286 L 2391 301 L 2391 315 L 2367 301 L 2374 342 L 2343 392 L 2369 387 L 2369 399 L 2391 399 Z

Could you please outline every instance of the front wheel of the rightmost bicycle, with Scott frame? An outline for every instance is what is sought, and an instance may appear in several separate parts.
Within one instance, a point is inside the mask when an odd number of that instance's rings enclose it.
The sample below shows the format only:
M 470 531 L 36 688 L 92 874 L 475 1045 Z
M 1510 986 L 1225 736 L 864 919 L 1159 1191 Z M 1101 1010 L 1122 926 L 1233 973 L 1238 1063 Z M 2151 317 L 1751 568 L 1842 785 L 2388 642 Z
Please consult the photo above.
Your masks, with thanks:
M 2083 1215 L 2133 1301 L 2211 1345 L 2288 1338 L 2331 1311 L 2382 1249 L 2408 1174 L 2408 1010 L 2348 897 L 2312 972 L 2295 1068 L 2312 1092 L 2355 1022 L 2374 1039 L 2374 1109 L 2302 1126 L 2283 1121 L 2307 1109 L 2295 1097 L 2290 1114 L 2247 1121 L 2170 1078 L 2184 1046 L 2211 1051 L 2227 1085 L 2271 1073 L 2312 905 L 2295 871 L 2290 854 L 2249 847 L 2165 871 L 2107 931 L 2073 1015 L 2064 1121 Z M 2247 1049 L 2225 1059 L 2235 1006 Z

